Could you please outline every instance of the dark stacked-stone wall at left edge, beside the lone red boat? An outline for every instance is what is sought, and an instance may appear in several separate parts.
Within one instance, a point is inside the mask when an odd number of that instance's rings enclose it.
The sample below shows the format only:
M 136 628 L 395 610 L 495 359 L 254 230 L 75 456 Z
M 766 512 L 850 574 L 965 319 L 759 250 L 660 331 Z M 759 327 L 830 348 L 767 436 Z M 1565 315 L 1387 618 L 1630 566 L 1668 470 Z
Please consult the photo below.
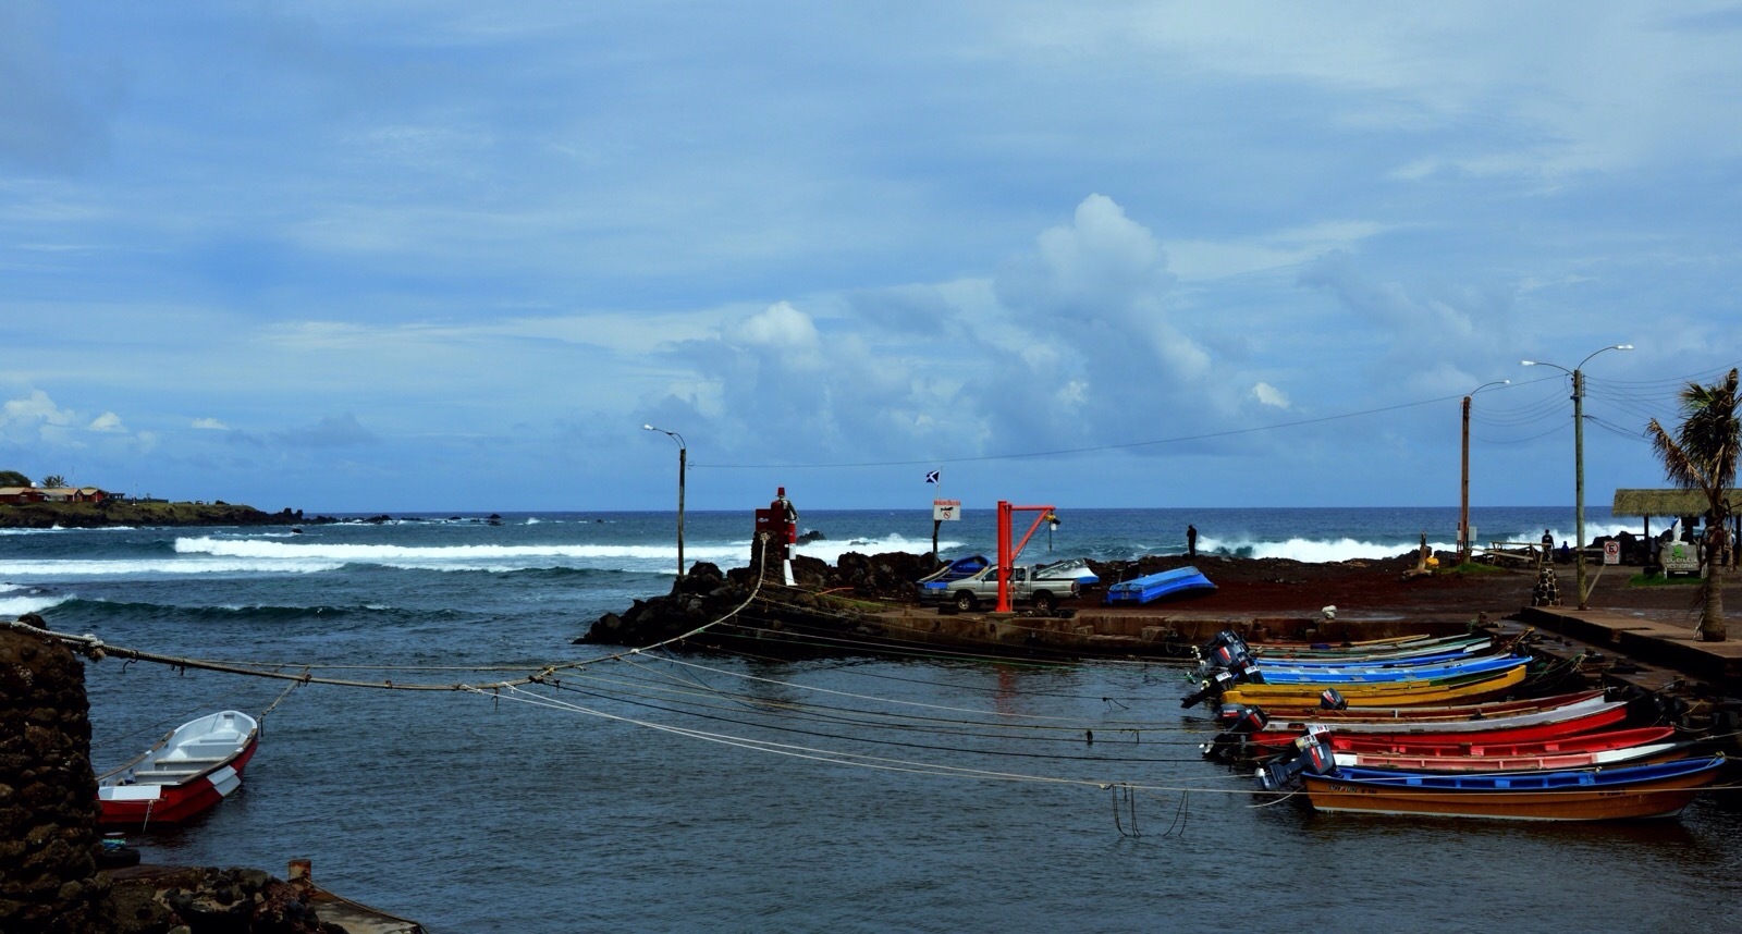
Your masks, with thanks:
M 0 931 L 105 932 L 84 664 L 0 629 Z

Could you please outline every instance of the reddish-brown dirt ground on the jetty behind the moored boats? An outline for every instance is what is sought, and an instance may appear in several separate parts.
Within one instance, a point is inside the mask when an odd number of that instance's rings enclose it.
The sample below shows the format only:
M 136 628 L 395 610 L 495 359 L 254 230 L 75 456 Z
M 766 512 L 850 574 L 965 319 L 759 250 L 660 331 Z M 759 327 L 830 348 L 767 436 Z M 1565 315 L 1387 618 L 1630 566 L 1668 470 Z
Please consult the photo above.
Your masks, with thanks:
M 1441 556 L 1449 565 L 1451 556 Z M 1214 592 L 1169 601 L 1169 610 L 1190 613 L 1228 615 L 1317 615 L 1322 606 L 1336 606 L 1340 619 L 1383 617 L 1462 617 L 1503 619 L 1521 606 L 1529 606 L 1536 589 L 1536 570 L 1495 570 L 1493 573 L 1434 573 L 1404 577 L 1416 566 L 1415 556 L 1397 556 L 1371 561 L 1301 563 L 1284 558 L 1219 558 L 1197 556 L 1144 561 L 1141 573 L 1192 565 L 1216 584 Z M 1139 568 L 1125 570 L 1136 577 Z M 1644 615 L 1664 622 L 1685 622 L 1693 627 L 1698 610 L 1693 605 L 1693 585 L 1634 587 L 1629 580 L 1639 568 L 1610 566 L 1597 575 L 1596 565 L 1587 565 L 1587 577 L 1596 577 L 1596 587 L 1587 601 L 1594 610 L 1613 610 Z M 1556 584 L 1561 603 L 1577 606 L 1573 565 L 1556 565 Z M 1103 580 L 1118 580 L 1120 570 L 1103 573 Z M 1732 580 L 1725 587 L 1726 617 L 1742 617 L 1742 585 Z M 1087 599 L 1099 599 L 1096 592 Z M 1162 603 L 1148 608 L 1158 610 Z

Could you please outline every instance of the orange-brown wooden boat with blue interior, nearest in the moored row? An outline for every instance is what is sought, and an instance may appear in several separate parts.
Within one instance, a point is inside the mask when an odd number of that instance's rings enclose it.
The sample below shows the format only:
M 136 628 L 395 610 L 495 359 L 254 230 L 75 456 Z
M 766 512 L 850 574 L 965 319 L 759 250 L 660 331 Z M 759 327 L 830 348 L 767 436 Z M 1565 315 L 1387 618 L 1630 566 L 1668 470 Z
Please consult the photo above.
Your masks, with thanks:
M 1620 768 L 1509 774 L 1381 772 L 1338 767 L 1305 774 L 1315 810 L 1491 817 L 1503 821 L 1627 821 L 1674 817 L 1711 784 L 1723 756 Z

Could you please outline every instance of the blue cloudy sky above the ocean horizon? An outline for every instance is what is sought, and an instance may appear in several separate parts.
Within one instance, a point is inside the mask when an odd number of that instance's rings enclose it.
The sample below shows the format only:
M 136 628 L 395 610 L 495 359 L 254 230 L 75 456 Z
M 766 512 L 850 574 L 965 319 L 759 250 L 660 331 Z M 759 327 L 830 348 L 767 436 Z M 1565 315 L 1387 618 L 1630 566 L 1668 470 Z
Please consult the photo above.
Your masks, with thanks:
M 12 0 L 0 469 L 672 509 L 652 423 L 688 509 L 1458 505 L 1474 392 L 1472 505 L 1571 505 L 1580 369 L 1608 505 L 1742 361 L 1739 47 L 1700 2 Z

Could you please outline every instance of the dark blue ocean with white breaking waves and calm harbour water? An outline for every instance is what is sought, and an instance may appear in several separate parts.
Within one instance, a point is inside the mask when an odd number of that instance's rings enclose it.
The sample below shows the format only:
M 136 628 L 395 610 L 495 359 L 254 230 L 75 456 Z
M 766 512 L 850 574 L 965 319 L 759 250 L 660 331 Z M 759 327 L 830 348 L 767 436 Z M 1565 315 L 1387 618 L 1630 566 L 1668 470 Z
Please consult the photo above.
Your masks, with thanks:
M 800 504 L 803 507 L 803 504 Z M 1019 514 L 1017 531 L 1033 516 Z M 1024 561 L 1200 551 L 1306 561 L 1455 538 L 1456 509 L 1059 511 Z M 1570 507 L 1472 509 L 1477 540 Z M 1585 535 L 1641 521 L 1587 511 Z M 690 512 L 742 566 L 751 512 Z M 927 511 L 803 511 L 800 549 L 928 551 Z M 573 645 L 662 594 L 672 512 L 399 516 L 289 528 L 0 533 L 0 615 L 322 678 L 87 662 L 96 767 L 193 716 L 265 714 L 242 789 L 146 861 L 314 876 L 434 932 L 1726 931 L 1742 807 L 1531 826 L 1315 816 L 1198 756 L 1169 664 L 780 662 Z M 993 554 L 991 511 L 939 530 Z M 465 690 L 545 666 L 559 683 Z M 1723 913 L 1721 913 L 1723 911 Z

